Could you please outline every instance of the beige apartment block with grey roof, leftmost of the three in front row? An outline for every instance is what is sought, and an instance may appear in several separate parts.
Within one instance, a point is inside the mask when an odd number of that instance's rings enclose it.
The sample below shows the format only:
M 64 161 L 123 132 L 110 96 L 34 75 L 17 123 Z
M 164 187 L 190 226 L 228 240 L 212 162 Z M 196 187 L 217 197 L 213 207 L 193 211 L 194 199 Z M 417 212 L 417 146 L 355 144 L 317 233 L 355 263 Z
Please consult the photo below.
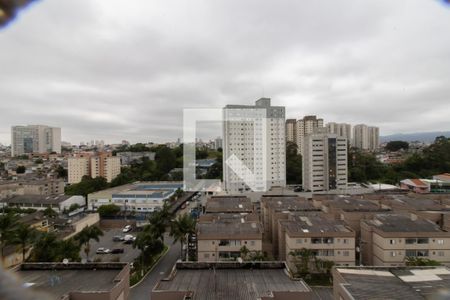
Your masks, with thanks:
M 262 252 L 262 225 L 251 215 L 217 215 L 197 223 L 199 262 L 236 260 L 243 246 L 250 252 Z

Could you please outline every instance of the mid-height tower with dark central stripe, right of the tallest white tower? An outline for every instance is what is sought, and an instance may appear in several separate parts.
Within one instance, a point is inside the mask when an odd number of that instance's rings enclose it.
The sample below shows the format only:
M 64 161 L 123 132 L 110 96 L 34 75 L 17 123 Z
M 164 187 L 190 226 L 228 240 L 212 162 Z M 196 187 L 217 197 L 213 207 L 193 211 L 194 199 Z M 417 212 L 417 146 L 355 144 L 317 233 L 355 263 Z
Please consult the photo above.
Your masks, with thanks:
M 331 133 L 313 133 L 303 147 L 303 189 L 311 192 L 347 187 L 347 139 Z

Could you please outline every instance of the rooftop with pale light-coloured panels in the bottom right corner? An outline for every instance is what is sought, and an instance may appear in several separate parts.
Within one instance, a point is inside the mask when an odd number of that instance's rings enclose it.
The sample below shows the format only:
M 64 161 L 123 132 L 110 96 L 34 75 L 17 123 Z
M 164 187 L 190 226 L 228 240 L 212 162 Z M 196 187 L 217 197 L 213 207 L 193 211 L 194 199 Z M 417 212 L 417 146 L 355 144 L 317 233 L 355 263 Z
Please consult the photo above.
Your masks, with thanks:
M 335 272 L 355 300 L 450 298 L 450 271 L 445 267 L 339 267 Z

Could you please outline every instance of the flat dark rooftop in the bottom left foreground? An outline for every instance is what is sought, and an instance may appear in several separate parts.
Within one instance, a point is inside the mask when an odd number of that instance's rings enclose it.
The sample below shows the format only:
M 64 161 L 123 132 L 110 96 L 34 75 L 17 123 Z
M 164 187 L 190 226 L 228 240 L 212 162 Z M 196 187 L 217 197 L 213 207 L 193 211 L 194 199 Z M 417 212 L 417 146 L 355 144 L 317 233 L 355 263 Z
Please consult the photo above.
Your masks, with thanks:
M 16 274 L 25 287 L 59 299 L 70 292 L 110 291 L 125 266 L 124 263 L 27 263 Z

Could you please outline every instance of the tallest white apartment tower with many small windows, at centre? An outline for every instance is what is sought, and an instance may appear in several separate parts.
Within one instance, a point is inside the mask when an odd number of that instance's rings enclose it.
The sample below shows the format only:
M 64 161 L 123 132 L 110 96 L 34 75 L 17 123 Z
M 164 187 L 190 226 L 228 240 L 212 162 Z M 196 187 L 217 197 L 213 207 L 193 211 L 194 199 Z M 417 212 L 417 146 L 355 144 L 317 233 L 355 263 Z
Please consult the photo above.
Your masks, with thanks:
M 286 185 L 285 108 L 269 98 L 223 109 L 225 190 L 267 191 Z

